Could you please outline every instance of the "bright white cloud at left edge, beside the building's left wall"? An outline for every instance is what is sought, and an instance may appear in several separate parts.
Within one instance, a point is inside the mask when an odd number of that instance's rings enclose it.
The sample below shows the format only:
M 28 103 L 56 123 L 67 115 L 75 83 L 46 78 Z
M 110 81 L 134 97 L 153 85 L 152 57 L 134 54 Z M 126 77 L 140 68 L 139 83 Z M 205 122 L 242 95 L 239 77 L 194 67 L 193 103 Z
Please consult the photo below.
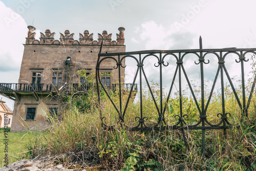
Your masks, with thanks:
M 0 32 L 2 33 L 0 44 L 4 45 L 0 46 L 0 73 L 3 75 L 3 72 L 4 74 L 16 72 L 18 75 L 24 51 L 23 44 L 28 32 L 27 25 L 19 14 L 7 8 L 2 2 L 0 2 L 0 16 Z M 5 81 L 16 82 L 17 80 L 8 77 Z

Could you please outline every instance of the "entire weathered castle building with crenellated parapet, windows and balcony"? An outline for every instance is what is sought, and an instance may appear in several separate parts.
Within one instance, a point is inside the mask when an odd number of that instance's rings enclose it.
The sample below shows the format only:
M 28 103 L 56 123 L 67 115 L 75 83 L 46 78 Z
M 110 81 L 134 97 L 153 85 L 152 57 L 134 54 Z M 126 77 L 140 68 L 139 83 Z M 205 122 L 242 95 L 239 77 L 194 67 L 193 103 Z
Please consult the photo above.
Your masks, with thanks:
M 118 28 L 116 41 L 106 31 L 93 40 L 88 30 L 79 34 L 79 40 L 74 40 L 74 33 L 69 30 L 60 33 L 59 40 L 54 38 L 55 33 L 46 30 L 37 40 L 35 28 L 28 29 L 18 83 L 0 83 L 1 95 L 15 100 L 11 132 L 25 131 L 27 126 L 30 130 L 47 127 L 46 113 L 58 111 L 58 104 L 51 97 L 63 88 L 83 84 L 85 80 L 77 75 L 78 70 L 95 71 L 101 41 L 101 53 L 125 52 L 122 27 Z M 125 61 L 122 65 L 125 66 Z M 114 60 L 102 66 L 101 73 L 106 74 L 102 74 L 101 81 L 111 87 L 118 81 Z M 121 76 L 124 78 L 124 68 Z

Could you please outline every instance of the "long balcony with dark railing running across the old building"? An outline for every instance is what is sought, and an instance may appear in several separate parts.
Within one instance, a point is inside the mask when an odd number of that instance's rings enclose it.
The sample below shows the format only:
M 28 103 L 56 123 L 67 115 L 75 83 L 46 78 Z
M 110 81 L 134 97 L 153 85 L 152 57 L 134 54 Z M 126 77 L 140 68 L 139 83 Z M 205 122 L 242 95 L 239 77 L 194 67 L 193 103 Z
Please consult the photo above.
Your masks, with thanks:
M 119 84 L 115 83 L 112 84 L 112 86 L 108 86 L 108 90 L 116 91 L 116 89 L 119 87 Z M 121 86 L 126 91 L 130 91 L 132 89 L 131 83 L 124 83 Z M 44 84 L 44 83 L 0 83 L 0 94 L 8 97 L 12 100 L 15 100 L 20 95 L 26 95 L 26 94 L 34 94 L 34 93 L 40 93 L 40 94 L 49 94 L 49 93 L 57 93 L 59 91 L 60 87 L 55 87 L 53 84 Z M 87 92 L 90 90 L 90 86 L 87 84 L 80 84 L 80 83 L 73 83 L 70 87 L 70 84 L 63 86 L 61 88 L 65 91 L 71 91 L 74 92 Z M 133 92 L 137 92 L 137 84 L 134 84 Z

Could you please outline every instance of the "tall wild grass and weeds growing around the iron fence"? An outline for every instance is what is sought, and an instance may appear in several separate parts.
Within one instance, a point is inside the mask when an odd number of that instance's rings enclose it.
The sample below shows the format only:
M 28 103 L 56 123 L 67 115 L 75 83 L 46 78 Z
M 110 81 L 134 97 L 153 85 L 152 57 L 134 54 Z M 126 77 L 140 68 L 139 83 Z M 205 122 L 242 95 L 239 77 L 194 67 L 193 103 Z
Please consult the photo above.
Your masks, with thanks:
M 157 85 L 153 92 L 158 95 Z M 105 169 L 122 171 L 256 170 L 256 128 L 253 126 L 256 123 L 256 105 L 252 105 L 249 109 L 249 117 L 240 122 L 240 109 L 232 93 L 229 90 L 226 92 L 226 109 L 232 114 L 228 119 L 231 127 L 227 130 L 226 136 L 223 135 L 223 130 L 206 130 L 205 157 L 202 155 L 201 130 L 185 131 L 187 139 L 190 139 L 188 145 L 184 144 L 180 131 L 127 131 L 116 124 L 118 118 L 115 109 L 108 98 L 101 94 L 101 114 L 106 118 L 105 123 L 114 125 L 114 130 L 103 130 L 99 111 L 95 108 L 98 104 L 94 98 L 97 96 L 92 95 L 95 91 L 83 95 L 84 97 L 60 95 L 63 109 L 58 112 L 59 120 L 56 116 L 50 117 L 46 113 L 51 125 L 45 132 L 27 135 L 8 133 L 10 149 L 16 147 L 15 142 L 27 143 L 27 147 L 23 145 L 18 151 L 10 152 L 10 156 L 13 156 L 12 161 L 16 161 L 24 157 L 33 158 L 38 155 L 57 155 L 73 151 L 83 156 L 79 158 L 82 162 L 86 162 L 89 154 L 94 156 L 90 162 L 98 163 Z M 238 90 L 238 93 L 240 92 Z M 127 98 L 127 94 L 122 95 L 123 99 Z M 148 117 L 146 123 L 155 124 L 158 117 L 155 104 L 148 92 L 143 92 L 142 96 L 143 112 Z M 111 97 L 118 105 L 118 94 L 111 93 Z M 158 99 L 157 103 L 159 103 Z M 84 104 L 88 107 L 84 108 Z M 255 96 L 251 104 L 256 104 Z M 186 121 L 189 124 L 195 123 L 198 120 L 195 102 L 189 96 L 184 96 L 182 105 L 184 114 L 189 116 Z M 177 119 L 174 119 L 174 115 L 179 113 L 179 99 L 173 98 L 167 106 L 168 123 L 176 123 Z M 138 116 L 139 111 L 139 102 L 131 102 L 128 105 L 125 116 L 127 125 L 137 124 L 134 118 Z M 216 114 L 222 112 L 220 95 L 215 94 L 212 97 L 208 111 L 211 112 L 207 114 L 208 121 L 218 123 L 220 118 Z M 30 138 L 27 137 L 28 135 Z M 29 152 L 22 153 L 26 151 Z M 17 155 L 18 153 L 22 154 Z M 69 162 L 62 161 L 63 164 L 70 164 Z M 74 164 L 75 161 L 72 162 Z

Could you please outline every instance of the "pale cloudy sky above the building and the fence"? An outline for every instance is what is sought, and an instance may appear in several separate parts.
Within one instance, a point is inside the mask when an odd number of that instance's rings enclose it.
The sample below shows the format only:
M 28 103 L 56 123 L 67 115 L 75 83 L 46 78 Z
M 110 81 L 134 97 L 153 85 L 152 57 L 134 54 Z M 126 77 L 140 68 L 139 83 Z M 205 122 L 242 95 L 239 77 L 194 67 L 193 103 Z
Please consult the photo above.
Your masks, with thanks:
M 27 26 L 32 24 L 37 39 L 46 29 L 56 33 L 55 39 L 68 29 L 77 40 L 84 30 L 94 33 L 95 40 L 103 30 L 116 39 L 122 26 L 126 51 L 198 49 L 200 35 L 203 48 L 254 48 L 255 7 L 254 0 L 2 0 L 0 82 L 18 81 Z M 12 108 L 12 101 L 3 100 Z

